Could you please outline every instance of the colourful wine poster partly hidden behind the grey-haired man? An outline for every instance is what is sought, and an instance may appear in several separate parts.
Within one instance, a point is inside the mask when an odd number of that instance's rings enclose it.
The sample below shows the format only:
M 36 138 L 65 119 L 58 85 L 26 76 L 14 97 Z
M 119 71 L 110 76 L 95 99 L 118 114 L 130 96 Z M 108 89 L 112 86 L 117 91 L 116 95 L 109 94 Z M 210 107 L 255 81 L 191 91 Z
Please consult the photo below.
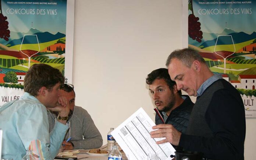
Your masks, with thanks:
M 183 46 L 198 50 L 237 88 L 246 117 L 256 117 L 256 1 L 184 0 L 183 7 Z

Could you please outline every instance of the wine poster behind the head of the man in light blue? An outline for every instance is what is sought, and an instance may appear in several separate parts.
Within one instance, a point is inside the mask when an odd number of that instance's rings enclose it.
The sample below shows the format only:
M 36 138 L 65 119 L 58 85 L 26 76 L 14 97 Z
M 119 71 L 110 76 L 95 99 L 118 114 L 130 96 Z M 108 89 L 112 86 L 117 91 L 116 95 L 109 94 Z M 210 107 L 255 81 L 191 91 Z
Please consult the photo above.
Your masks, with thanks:
M 0 0 L 0 106 L 23 95 L 33 64 L 72 83 L 73 35 L 74 0 Z

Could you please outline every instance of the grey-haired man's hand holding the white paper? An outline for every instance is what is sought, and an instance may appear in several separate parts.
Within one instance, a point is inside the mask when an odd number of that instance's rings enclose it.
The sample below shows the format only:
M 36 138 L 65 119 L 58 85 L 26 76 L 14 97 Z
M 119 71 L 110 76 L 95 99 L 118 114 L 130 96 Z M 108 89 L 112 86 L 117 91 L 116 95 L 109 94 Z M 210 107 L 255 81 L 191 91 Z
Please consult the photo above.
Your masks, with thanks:
M 157 129 L 156 131 L 150 132 L 152 138 L 166 138 L 161 141 L 156 142 L 157 144 L 162 144 L 170 142 L 171 144 L 178 146 L 179 139 L 181 138 L 181 132 L 177 131 L 171 124 L 159 124 L 152 127 L 152 129 Z

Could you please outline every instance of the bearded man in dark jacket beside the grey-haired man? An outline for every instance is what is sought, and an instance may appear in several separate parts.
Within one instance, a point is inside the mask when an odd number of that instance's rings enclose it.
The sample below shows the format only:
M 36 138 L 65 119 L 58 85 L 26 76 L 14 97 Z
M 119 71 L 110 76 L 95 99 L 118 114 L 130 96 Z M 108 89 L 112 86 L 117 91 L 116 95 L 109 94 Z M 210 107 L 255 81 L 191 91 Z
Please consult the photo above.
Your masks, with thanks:
M 147 75 L 146 83 L 157 107 L 156 124 L 172 124 L 179 132 L 185 133 L 194 105 L 189 96 L 181 95 L 166 68 L 152 71 Z

